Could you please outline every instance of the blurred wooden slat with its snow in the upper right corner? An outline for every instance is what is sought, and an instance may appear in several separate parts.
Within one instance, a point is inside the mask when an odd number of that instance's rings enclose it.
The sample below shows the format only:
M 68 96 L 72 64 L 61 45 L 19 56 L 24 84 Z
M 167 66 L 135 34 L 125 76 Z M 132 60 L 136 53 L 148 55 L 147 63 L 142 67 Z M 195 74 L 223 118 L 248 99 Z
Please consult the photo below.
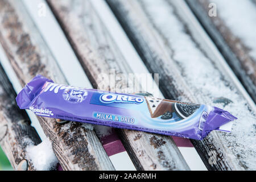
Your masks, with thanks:
M 255 1 L 187 0 L 187 3 L 256 102 Z M 213 10 L 209 5 L 216 7 L 217 16 L 208 15 Z

